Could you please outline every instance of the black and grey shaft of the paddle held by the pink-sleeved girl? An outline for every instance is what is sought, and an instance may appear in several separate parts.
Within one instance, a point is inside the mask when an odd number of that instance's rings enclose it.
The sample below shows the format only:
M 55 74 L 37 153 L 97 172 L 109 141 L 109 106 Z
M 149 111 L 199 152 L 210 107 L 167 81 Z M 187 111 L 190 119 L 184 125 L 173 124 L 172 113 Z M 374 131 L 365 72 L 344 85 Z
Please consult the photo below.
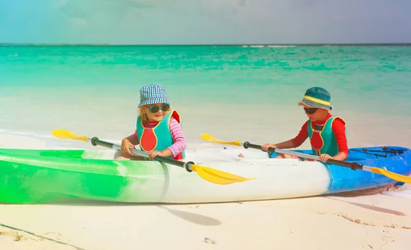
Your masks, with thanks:
M 112 142 L 105 142 L 103 140 L 99 140 L 99 138 L 97 137 L 87 138 L 87 140 L 90 141 L 93 146 L 100 145 L 103 147 L 108 147 L 110 149 L 121 150 L 121 145 L 114 144 Z M 149 153 L 145 151 L 141 151 L 137 149 L 130 149 L 130 151 L 132 152 L 133 155 L 140 155 L 142 157 L 149 158 Z M 159 162 L 165 162 L 168 164 L 173 164 L 175 166 L 186 168 L 186 171 L 188 172 L 192 172 L 191 166 L 194 165 L 194 162 L 180 162 L 178 160 L 173 160 L 171 158 L 160 156 L 160 155 L 155 156 L 154 160 L 158 160 Z

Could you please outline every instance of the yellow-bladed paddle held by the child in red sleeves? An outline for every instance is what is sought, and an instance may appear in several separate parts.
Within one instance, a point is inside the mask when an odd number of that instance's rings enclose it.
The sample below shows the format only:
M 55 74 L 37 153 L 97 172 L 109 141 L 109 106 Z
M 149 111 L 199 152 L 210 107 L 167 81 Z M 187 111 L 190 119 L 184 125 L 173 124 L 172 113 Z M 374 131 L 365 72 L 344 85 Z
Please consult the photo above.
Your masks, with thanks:
M 201 134 L 201 138 L 203 138 L 203 140 L 206 140 L 208 142 L 216 142 L 216 143 L 225 144 L 225 145 L 240 146 L 240 147 L 244 147 L 245 149 L 247 149 L 249 147 L 252 148 L 252 149 L 261 149 L 261 145 L 251 144 L 250 142 L 240 142 L 238 140 L 234 140 L 232 142 L 223 142 L 221 140 L 218 140 L 218 139 L 214 138 L 213 136 L 210 136 L 209 134 Z M 270 152 L 276 152 L 276 153 L 286 153 L 288 155 L 295 155 L 295 156 L 299 156 L 301 158 L 307 158 L 307 159 L 321 161 L 319 156 L 310 155 L 310 154 L 307 154 L 307 153 L 299 153 L 299 152 L 296 152 L 296 151 L 290 151 L 290 150 L 284 150 L 284 149 L 273 149 L 273 148 L 269 148 L 269 151 Z M 375 166 L 363 166 L 363 165 L 358 164 L 356 162 L 343 162 L 343 161 L 334 160 L 334 159 L 327 160 L 327 163 L 328 164 L 338 165 L 338 166 L 345 166 L 346 168 L 351 168 L 354 171 L 357 170 L 357 169 L 361 169 L 363 171 L 369 171 L 371 173 L 377 173 L 379 175 L 385 175 L 386 177 L 388 177 L 390 179 L 395 179 L 398 182 L 411 183 L 411 177 L 406 176 L 406 175 L 399 175 L 397 173 L 393 173 L 393 172 L 390 172 L 390 171 L 386 171 L 384 168 L 377 168 Z

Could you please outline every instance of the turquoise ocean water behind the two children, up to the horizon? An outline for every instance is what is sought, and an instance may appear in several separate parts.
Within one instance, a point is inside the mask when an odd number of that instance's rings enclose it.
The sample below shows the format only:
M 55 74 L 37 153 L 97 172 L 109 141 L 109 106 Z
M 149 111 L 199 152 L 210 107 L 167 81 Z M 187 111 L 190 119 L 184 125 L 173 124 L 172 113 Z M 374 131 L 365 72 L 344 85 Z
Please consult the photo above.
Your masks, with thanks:
M 312 86 L 331 93 L 349 147 L 411 147 L 408 46 L 0 46 L 0 145 L 92 147 L 53 138 L 58 128 L 119 142 L 148 83 L 166 87 L 189 147 L 202 133 L 293 138 Z

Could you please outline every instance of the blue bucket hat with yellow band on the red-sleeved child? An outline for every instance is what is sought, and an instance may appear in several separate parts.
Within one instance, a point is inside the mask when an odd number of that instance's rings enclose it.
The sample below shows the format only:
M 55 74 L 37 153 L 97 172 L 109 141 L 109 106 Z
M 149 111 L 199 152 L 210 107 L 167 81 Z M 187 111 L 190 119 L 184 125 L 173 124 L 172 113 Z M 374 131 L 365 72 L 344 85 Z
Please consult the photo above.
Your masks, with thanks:
M 307 105 L 310 108 L 323 108 L 325 110 L 332 110 L 331 95 L 324 88 L 312 87 L 306 90 L 303 99 L 298 102 L 298 105 Z

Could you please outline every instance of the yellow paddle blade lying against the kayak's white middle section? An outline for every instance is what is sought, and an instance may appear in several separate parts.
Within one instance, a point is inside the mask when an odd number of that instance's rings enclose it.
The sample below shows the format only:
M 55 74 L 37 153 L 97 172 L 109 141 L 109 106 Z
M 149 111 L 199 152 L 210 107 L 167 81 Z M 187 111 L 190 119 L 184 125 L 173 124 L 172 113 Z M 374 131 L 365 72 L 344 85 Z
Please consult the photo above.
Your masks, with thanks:
M 256 179 L 256 178 L 245 178 L 242 176 L 233 175 L 232 173 L 219 171 L 214 168 L 208 168 L 206 166 L 199 166 L 196 164 L 192 165 L 191 169 L 192 171 L 197 172 L 197 174 L 199 174 L 201 178 L 205 179 L 208 182 L 212 182 L 214 184 L 227 185 L 227 184 L 233 184 L 235 182 L 245 182 L 250 179 Z

